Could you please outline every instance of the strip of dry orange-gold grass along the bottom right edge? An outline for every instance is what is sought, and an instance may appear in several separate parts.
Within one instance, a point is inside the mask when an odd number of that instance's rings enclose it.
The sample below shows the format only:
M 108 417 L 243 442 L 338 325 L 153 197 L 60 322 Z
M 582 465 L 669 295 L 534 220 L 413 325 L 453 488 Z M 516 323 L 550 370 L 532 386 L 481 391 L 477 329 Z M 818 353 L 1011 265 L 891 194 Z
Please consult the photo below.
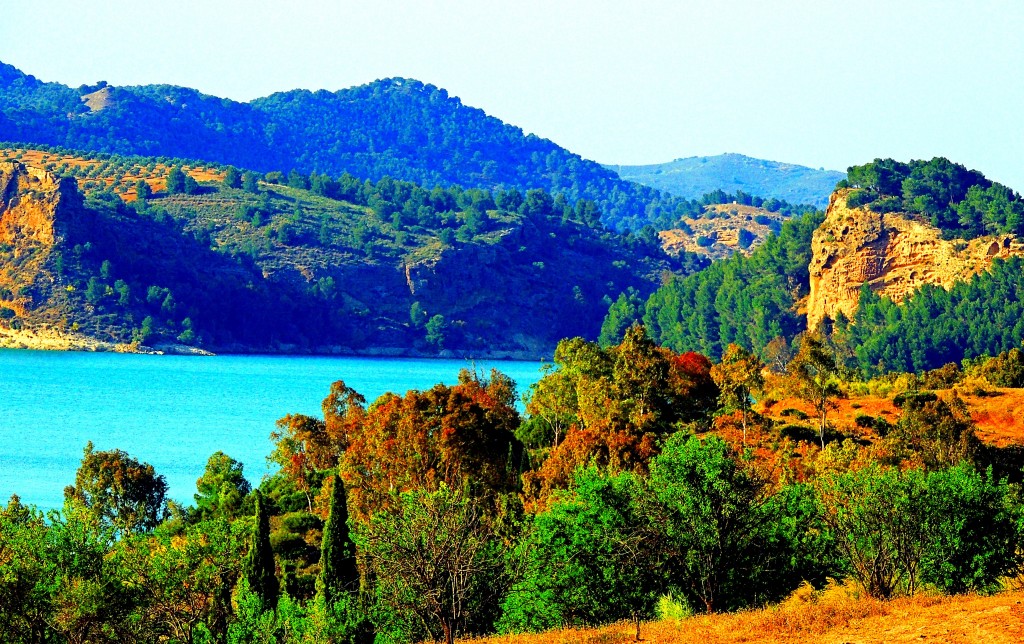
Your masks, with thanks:
M 658 644 L 820 644 L 1024 642 L 1024 592 L 979 597 L 920 595 L 880 602 L 849 586 L 822 592 L 808 587 L 777 606 L 721 615 L 700 615 L 642 625 L 644 642 Z M 477 644 L 612 644 L 633 642 L 634 627 L 567 629 L 536 635 L 490 637 Z

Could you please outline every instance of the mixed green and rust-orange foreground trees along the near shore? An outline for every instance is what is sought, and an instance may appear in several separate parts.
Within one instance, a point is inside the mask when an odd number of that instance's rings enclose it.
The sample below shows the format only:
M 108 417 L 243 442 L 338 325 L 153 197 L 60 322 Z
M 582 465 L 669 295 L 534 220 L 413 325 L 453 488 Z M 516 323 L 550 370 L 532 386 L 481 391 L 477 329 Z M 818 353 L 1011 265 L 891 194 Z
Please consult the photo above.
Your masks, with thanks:
M 187 506 L 89 444 L 62 509 L 0 508 L 0 637 L 453 642 L 629 620 L 639 639 L 806 585 L 887 600 L 1024 573 L 1024 461 L 979 440 L 957 393 L 1024 383 L 1021 351 L 862 381 L 826 338 L 797 345 L 777 368 L 641 326 L 565 340 L 524 413 L 500 372 L 371 404 L 338 381 L 322 416 L 278 422 L 275 474 L 253 485 L 216 453 Z M 842 422 L 864 390 L 898 417 Z

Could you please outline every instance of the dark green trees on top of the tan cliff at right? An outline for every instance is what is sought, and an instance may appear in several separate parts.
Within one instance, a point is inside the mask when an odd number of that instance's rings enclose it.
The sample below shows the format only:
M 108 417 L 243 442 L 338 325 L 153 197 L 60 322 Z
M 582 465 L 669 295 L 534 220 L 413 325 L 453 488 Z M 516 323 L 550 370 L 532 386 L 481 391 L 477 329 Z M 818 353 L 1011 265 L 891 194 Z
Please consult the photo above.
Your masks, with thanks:
M 950 239 L 1024 234 L 1019 195 L 941 157 L 909 163 L 876 159 L 851 167 L 839 187 L 855 188 L 847 199 L 851 208 L 918 215 Z

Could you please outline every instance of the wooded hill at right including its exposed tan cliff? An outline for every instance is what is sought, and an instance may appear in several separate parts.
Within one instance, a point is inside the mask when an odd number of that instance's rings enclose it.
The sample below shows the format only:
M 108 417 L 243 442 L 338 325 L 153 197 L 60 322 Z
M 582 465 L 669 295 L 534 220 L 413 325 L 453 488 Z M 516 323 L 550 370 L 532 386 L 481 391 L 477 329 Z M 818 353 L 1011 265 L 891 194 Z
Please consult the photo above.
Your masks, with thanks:
M 850 169 L 826 214 L 671 281 L 632 316 L 616 302 L 605 326 L 642 318 L 676 350 L 735 342 L 777 358 L 824 321 L 865 373 L 937 369 L 1024 341 L 1022 233 L 1024 200 L 980 172 L 876 160 Z

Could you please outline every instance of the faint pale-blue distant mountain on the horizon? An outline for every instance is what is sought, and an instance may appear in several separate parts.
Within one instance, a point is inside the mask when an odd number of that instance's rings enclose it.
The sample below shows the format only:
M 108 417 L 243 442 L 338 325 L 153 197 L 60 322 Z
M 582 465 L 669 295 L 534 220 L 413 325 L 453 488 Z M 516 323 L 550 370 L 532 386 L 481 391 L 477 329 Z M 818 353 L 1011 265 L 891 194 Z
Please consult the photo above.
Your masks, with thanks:
M 647 166 L 606 165 L 620 177 L 670 195 L 697 199 L 715 189 L 775 198 L 791 204 L 824 208 L 836 183 L 846 174 L 791 163 L 727 154 L 689 157 Z

